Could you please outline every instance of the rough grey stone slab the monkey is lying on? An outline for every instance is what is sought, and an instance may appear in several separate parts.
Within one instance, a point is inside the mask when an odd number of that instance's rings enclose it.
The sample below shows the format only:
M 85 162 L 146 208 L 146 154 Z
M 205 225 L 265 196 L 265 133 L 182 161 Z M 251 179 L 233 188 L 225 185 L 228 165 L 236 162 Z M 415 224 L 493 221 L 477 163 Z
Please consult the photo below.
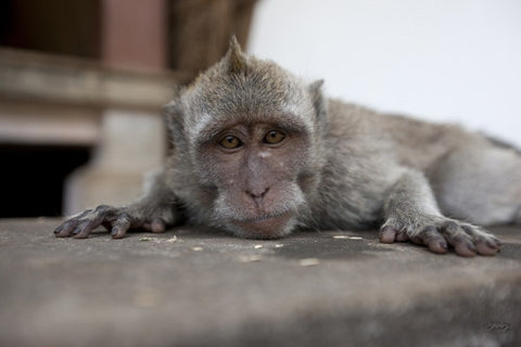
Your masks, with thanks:
M 496 257 L 376 231 L 55 239 L 0 221 L 1 346 L 521 346 L 521 230 Z

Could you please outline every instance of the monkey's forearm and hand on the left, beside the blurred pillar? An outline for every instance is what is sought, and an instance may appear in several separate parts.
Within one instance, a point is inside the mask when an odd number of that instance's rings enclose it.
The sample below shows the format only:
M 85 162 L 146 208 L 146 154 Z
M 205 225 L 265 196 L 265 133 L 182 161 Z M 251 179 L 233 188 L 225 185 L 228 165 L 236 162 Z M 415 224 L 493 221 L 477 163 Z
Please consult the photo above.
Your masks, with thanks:
M 130 228 L 163 232 L 178 218 L 177 197 L 165 184 L 162 175 L 157 175 L 147 194 L 138 201 L 122 207 L 100 205 L 87 209 L 68 218 L 54 230 L 54 234 L 58 237 L 85 239 L 96 228 L 104 226 L 114 239 L 122 239 Z

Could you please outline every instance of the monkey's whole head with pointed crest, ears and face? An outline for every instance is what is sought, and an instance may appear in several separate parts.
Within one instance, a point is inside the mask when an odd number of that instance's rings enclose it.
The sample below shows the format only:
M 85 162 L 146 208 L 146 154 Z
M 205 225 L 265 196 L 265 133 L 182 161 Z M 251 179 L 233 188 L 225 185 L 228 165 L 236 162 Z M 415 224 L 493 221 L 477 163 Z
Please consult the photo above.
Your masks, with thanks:
M 196 187 L 182 201 L 239 236 L 291 232 L 320 181 L 320 86 L 245 54 L 232 38 L 225 57 L 165 107 L 175 155 L 190 168 L 186 184 Z

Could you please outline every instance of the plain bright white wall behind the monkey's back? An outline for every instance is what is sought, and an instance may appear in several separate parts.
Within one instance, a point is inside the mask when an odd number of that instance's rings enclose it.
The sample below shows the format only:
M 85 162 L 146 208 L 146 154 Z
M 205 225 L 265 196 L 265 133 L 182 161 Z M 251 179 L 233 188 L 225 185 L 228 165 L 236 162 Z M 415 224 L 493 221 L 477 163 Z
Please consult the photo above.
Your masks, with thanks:
M 521 146 L 520 0 L 260 0 L 250 39 L 329 95 Z

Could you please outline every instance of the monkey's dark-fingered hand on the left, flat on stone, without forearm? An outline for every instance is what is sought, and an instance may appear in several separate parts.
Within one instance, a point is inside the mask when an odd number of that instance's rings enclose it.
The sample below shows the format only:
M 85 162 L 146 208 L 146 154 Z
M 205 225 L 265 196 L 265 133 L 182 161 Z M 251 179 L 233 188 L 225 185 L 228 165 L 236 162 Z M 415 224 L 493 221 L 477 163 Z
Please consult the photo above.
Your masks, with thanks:
M 56 237 L 86 239 L 92 230 L 103 226 L 111 231 L 113 239 L 122 239 L 129 229 L 144 229 L 151 232 L 165 231 L 165 221 L 161 217 L 142 217 L 128 207 L 100 205 L 87 209 L 64 221 L 54 230 Z

